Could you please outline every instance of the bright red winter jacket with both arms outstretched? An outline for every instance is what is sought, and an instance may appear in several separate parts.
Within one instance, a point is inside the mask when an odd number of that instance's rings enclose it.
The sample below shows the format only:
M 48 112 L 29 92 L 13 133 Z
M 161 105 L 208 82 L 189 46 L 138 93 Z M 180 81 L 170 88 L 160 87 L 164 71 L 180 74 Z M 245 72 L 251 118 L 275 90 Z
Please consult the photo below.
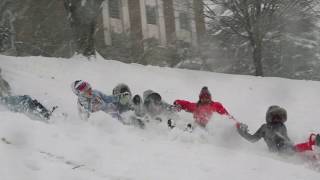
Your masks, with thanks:
M 174 104 L 187 112 L 193 113 L 193 118 L 201 126 L 207 125 L 214 112 L 217 112 L 221 115 L 229 114 L 219 102 L 212 101 L 209 104 L 200 104 L 185 100 L 176 100 Z

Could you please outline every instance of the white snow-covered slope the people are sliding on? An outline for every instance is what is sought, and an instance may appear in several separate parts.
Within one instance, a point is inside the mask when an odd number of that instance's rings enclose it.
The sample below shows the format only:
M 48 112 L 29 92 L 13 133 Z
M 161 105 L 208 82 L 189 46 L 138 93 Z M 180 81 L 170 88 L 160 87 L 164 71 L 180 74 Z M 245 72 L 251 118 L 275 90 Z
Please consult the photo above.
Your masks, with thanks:
M 214 116 L 209 133 L 169 131 L 164 124 L 141 130 L 123 126 L 104 113 L 88 122 L 77 115 L 70 84 L 89 81 L 111 94 L 127 83 L 134 94 L 153 89 L 163 99 L 196 101 L 202 86 L 211 90 L 238 120 L 255 131 L 269 105 L 288 110 L 288 133 L 302 142 L 320 132 L 320 83 L 257 78 L 182 69 L 123 64 L 101 58 L 55 59 L 0 56 L 3 76 L 14 94 L 29 94 L 48 107 L 58 105 L 50 123 L 0 109 L 1 180 L 212 180 L 319 179 L 298 157 L 268 152 L 263 141 L 250 144 L 235 132 L 233 122 Z M 59 113 L 68 113 L 68 117 Z M 192 115 L 180 113 L 183 121 Z

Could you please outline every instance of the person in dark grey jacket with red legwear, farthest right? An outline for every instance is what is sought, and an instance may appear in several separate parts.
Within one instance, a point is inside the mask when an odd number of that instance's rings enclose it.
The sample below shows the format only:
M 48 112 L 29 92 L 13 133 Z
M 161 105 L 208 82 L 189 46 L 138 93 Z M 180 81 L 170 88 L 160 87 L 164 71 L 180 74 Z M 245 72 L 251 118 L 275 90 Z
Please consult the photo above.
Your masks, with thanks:
M 320 135 L 311 134 L 308 142 L 294 145 L 289 139 L 287 128 L 287 111 L 279 106 L 270 106 L 266 113 L 266 123 L 263 124 L 253 135 L 249 134 L 248 126 L 237 123 L 238 133 L 250 142 L 264 139 L 272 152 L 304 152 L 313 150 L 313 146 L 320 146 Z

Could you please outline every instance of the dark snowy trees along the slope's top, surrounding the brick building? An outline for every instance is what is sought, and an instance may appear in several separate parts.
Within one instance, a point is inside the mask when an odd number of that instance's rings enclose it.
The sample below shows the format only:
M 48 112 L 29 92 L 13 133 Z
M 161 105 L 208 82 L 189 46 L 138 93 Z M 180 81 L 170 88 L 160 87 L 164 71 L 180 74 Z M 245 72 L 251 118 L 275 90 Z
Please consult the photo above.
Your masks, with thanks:
M 206 0 L 197 48 L 113 34 L 103 45 L 103 0 L 2 0 L 0 53 L 123 62 L 233 74 L 320 80 L 320 0 Z M 99 26 L 100 24 L 100 26 Z

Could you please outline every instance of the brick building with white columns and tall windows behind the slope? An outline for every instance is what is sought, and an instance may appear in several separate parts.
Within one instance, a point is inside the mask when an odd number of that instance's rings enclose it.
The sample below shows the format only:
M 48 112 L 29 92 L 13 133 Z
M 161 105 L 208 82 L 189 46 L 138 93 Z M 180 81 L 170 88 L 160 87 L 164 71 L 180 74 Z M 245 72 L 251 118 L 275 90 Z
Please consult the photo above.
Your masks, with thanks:
M 105 0 L 100 21 L 106 46 L 113 46 L 113 34 L 126 34 L 140 46 L 152 38 L 163 47 L 197 47 L 205 33 L 201 0 Z

